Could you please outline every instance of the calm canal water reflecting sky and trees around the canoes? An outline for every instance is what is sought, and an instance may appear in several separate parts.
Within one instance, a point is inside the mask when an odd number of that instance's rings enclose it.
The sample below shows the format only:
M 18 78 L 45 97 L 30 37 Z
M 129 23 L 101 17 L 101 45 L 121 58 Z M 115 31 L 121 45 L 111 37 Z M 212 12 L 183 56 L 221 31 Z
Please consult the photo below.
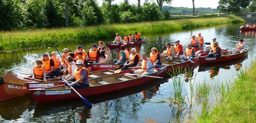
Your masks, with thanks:
M 243 24 L 217 25 L 209 28 L 186 30 L 175 33 L 164 33 L 147 35 L 147 41 L 140 47 L 140 53 L 150 53 L 151 47 L 161 47 L 166 42 L 180 40 L 186 46 L 191 35 L 202 33 L 205 42 L 217 38 L 219 46 L 232 50 L 238 39 L 243 38 L 249 48 L 248 56 L 235 61 L 209 66 L 195 66 L 192 69 L 191 78 L 182 83 L 184 104 L 175 105 L 170 98 L 174 97 L 173 79 L 166 77 L 138 87 L 113 92 L 88 98 L 94 103 L 88 108 L 80 99 L 70 101 L 60 101 L 47 104 L 36 105 L 30 95 L 15 98 L 10 101 L 0 103 L 0 122 L 82 122 L 82 123 L 145 123 L 155 121 L 157 123 L 166 122 L 187 122 L 197 118 L 202 112 L 202 104 L 196 102 L 192 108 L 189 106 L 190 88 L 189 80 L 194 85 L 207 83 L 211 85 L 211 93 L 206 109 L 213 108 L 221 99 L 221 94 L 217 92 L 223 81 L 235 80 L 239 69 L 249 68 L 251 61 L 255 58 L 256 32 L 241 32 L 239 27 Z M 130 32 L 127 32 L 130 33 Z M 144 35 L 143 35 L 144 36 Z M 109 41 L 112 39 L 105 39 Z M 75 50 L 78 45 L 89 49 L 98 40 L 82 40 L 77 44 L 58 44 L 59 51 L 64 47 Z M 0 75 L 10 70 L 18 76 L 24 76 L 22 72 L 30 72 L 35 65 L 35 60 L 40 59 L 44 52 L 56 51 L 53 46 L 45 49 L 10 52 L 0 54 Z M 115 57 L 115 51 L 112 51 Z M 232 83 L 231 83 L 232 84 Z

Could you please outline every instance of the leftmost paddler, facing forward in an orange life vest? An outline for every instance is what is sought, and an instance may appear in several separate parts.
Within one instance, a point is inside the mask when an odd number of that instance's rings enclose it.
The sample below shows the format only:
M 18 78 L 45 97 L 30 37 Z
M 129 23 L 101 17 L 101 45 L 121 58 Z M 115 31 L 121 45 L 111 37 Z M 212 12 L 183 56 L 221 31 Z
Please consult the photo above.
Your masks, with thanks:
M 36 61 L 37 65 L 33 68 L 33 77 L 35 79 L 46 80 L 45 65 L 41 60 Z

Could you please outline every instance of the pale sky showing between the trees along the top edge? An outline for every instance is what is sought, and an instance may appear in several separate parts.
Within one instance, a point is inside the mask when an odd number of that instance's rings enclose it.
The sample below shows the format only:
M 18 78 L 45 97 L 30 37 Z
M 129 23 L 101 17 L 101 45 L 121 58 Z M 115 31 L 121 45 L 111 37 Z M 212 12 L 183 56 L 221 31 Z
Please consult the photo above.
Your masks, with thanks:
M 97 0 L 99 5 L 101 6 L 103 0 Z M 113 4 L 120 4 L 124 0 L 114 0 Z M 145 0 L 140 0 L 140 5 L 143 5 Z M 156 3 L 156 0 L 153 0 Z M 211 7 L 217 8 L 219 0 L 195 0 L 195 7 Z M 137 0 L 129 0 L 129 3 L 137 4 Z M 167 4 L 164 4 L 167 5 Z M 171 3 L 172 7 L 189 7 L 192 8 L 192 0 L 173 0 Z

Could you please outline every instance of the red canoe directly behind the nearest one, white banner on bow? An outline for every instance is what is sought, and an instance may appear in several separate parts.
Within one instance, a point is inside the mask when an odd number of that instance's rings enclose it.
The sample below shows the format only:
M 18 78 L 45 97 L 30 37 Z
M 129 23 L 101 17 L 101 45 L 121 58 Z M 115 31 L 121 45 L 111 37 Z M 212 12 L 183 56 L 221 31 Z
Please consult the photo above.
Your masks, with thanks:
M 89 79 L 99 78 L 103 76 L 110 76 L 110 75 L 116 75 L 116 74 L 123 74 L 128 73 L 129 71 L 121 71 L 120 73 L 114 73 L 118 68 L 113 69 L 106 69 L 101 71 L 95 71 L 89 73 Z M 53 87 L 53 86 L 59 86 L 64 85 L 64 82 L 27 82 L 24 83 L 26 88 L 29 89 L 37 89 L 37 88 L 44 88 L 44 87 Z

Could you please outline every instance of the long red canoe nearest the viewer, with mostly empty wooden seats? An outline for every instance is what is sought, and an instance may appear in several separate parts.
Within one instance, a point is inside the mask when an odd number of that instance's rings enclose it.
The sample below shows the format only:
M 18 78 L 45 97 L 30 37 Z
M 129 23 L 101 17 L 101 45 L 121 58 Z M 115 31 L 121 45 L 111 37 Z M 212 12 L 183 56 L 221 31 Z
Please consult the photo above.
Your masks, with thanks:
M 166 67 L 158 68 L 151 76 L 165 76 Z M 95 78 L 89 81 L 90 87 L 76 89 L 83 97 L 106 94 L 117 90 L 123 90 L 135 87 L 144 83 L 149 83 L 156 78 L 135 75 L 128 76 L 125 74 L 105 76 Z M 30 94 L 37 103 L 46 103 L 51 101 L 62 101 L 80 98 L 74 90 L 64 85 L 56 87 L 30 89 Z

